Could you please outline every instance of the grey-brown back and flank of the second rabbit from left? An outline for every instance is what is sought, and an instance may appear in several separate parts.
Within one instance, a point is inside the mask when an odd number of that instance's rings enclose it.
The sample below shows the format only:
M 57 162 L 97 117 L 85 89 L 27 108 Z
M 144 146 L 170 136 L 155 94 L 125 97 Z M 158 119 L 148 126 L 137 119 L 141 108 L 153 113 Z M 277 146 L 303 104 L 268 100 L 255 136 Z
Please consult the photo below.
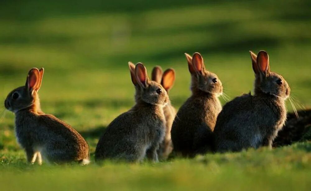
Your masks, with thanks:
M 135 162 L 145 158 L 146 151 L 158 146 L 165 134 L 163 113 L 162 116 L 148 115 L 149 112 L 148 109 L 132 109 L 115 118 L 96 146 L 95 159 Z

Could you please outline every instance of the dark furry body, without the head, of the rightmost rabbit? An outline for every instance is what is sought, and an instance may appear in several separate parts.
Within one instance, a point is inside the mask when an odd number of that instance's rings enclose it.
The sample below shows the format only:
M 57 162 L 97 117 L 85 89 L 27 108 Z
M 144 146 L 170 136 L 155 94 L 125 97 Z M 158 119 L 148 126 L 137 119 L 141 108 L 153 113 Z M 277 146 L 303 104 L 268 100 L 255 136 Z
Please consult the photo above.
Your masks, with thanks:
M 279 102 L 268 95 L 244 94 L 225 104 L 214 129 L 215 150 L 271 146 L 286 120 L 286 109 Z

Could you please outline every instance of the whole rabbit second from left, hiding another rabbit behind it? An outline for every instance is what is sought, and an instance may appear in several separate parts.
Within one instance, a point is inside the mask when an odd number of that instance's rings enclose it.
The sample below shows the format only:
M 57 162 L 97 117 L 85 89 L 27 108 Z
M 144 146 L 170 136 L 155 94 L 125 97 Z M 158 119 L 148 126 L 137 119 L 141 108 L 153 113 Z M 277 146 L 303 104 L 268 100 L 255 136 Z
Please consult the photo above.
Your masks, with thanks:
M 149 80 L 142 63 L 129 63 L 136 104 L 115 118 L 100 137 L 95 160 L 141 162 L 145 157 L 158 162 L 157 150 L 165 135 L 163 107 L 169 97 L 157 82 Z

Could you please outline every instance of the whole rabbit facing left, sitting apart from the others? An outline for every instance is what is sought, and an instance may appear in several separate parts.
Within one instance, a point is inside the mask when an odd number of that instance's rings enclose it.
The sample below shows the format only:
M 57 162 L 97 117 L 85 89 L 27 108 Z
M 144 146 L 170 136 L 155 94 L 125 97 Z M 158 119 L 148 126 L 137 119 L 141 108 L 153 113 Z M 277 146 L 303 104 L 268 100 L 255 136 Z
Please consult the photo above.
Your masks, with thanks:
M 4 106 L 15 113 L 17 141 L 26 151 L 27 162 L 48 163 L 89 161 L 89 147 L 83 137 L 70 125 L 40 108 L 38 91 L 44 69 L 30 69 L 26 85 L 11 91 Z

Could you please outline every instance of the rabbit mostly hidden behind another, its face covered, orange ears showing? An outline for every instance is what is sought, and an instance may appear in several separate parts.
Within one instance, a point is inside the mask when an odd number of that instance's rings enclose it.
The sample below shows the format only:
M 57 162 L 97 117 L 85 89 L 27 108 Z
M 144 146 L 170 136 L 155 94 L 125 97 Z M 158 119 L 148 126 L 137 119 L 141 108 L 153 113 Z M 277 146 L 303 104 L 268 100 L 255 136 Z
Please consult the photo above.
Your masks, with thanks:
M 152 70 L 151 79 L 155 82 L 158 82 L 164 87 L 167 93 L 173 87 L 175 82 L 175 70 L 167 69 L 163 73 L 163 70 L 160 66 L 155 66 Z M 176 115 L 176 109 L 172 106 L 170 100 L 168 104 L 163 108 L 164 116 L 166 120 L 166 129 L 165 137 L 162 143 L 160 143 L 160 148 L 158 150 L 158 156 L 162 160 L 166 160 L 169 157 L 169 154 L 173 150 L 173 144 L 171 140 L 171 128 Z

